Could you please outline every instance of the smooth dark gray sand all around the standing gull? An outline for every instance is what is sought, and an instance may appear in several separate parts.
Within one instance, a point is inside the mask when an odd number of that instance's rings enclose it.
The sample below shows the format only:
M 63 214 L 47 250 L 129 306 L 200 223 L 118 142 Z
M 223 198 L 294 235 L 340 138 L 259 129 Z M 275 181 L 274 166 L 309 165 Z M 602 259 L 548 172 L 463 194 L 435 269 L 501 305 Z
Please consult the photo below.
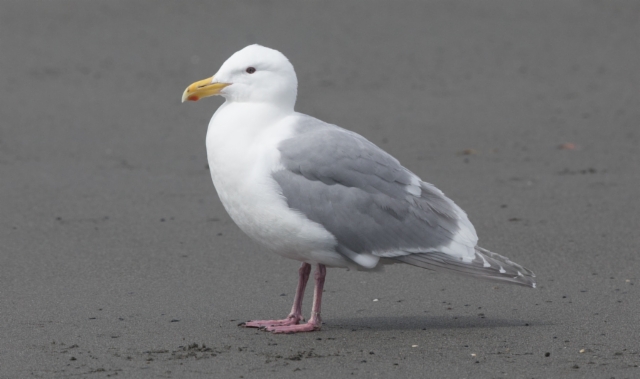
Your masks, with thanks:
M 0 377 L 640 377 L 640 3 L 253 3 L 2 2 Z M 222 99 L 179 99 L 255 42 L 539 289 L 331 269 L 322 331 L 237 327 L 298 263 L 215 195 Z

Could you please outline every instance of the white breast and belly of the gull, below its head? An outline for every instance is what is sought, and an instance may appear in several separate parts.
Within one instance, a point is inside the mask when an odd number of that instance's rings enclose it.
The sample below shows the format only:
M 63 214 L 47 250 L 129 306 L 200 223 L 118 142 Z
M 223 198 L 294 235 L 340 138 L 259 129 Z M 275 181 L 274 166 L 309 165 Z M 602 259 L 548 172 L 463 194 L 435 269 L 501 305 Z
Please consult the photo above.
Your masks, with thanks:
M 248 236 L 285 257 L 332 266 L 335 238 L 291 210 L 271 173 L 283 169 L 278 143 L 293 133 L 295 114 L 261 105 L 226 103 L 207 132 L 211 177 L 225 209 Z M 325 259 L 326 258 L 326 259 Z

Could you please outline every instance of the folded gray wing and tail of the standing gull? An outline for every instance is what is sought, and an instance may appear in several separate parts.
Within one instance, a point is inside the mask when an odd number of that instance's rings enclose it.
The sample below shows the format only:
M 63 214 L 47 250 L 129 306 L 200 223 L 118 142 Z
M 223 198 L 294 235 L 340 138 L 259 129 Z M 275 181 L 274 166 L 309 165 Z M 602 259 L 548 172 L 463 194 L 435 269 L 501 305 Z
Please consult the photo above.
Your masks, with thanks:
M 477 247 L 465 212 L 364 137 L 301 116 L 273 173 L 290 208 L 321 224 L 336 251 L 372 268 L 378 257 L 535 286 L 535 275 Z M 373 256 L 375 260 L 361 259 Z

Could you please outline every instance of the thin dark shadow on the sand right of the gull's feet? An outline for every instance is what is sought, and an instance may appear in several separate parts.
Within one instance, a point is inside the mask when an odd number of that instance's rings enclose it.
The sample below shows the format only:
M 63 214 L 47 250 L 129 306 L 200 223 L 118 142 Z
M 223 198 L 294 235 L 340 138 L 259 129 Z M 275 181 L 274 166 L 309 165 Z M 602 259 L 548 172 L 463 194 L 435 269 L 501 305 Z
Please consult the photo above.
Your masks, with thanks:
M 435 330 L 467 328 L 514 328 L 543 326 L 545 323 L 518 319 L 481 318 L 477 316 L 398 316 L 334 318 L 325 321 L 332 329 L 351 330 Z

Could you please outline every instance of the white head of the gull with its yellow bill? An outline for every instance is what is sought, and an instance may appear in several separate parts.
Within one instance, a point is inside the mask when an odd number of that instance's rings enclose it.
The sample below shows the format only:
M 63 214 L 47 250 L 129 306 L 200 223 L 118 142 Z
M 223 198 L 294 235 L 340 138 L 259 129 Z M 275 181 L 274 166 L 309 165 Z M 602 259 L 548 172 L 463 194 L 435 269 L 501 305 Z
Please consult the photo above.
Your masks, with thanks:
M 231 102 L 270 103 L 293 109 L 298 79 L 279 51 L 250 45 L 233 54 L 211 78 L 193 83 L 182 101 L 222 95 Z

